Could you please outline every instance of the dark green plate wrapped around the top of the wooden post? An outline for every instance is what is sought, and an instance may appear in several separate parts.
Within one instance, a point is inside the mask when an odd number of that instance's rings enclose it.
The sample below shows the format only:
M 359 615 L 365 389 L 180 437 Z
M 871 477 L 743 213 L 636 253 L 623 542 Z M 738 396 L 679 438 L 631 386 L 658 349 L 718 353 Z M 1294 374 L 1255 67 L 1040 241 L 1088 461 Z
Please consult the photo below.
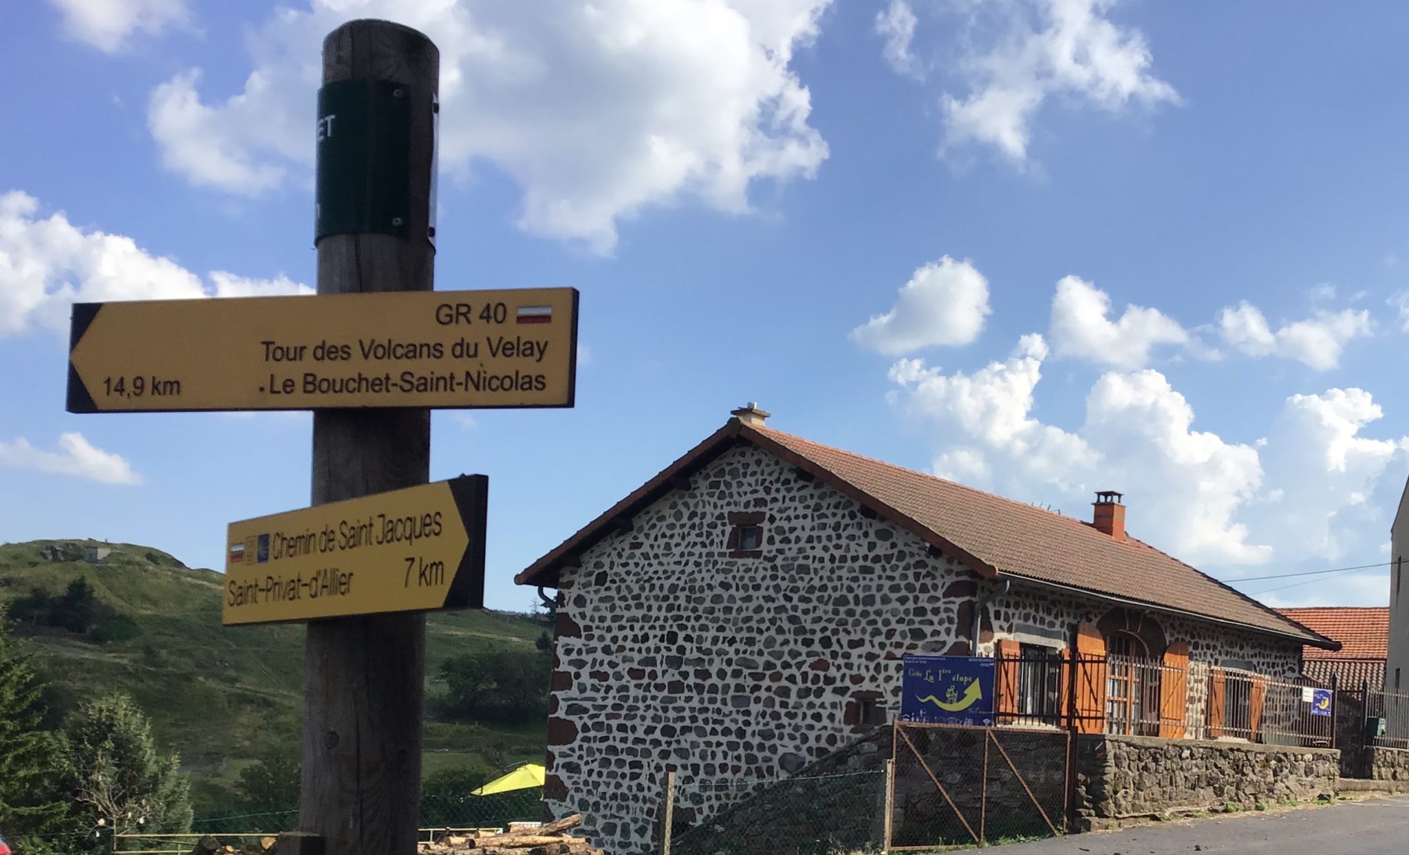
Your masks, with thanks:
M 338 80 L 318 90 L 317 244 L 330 234 L 410 231 L 411 90 Z

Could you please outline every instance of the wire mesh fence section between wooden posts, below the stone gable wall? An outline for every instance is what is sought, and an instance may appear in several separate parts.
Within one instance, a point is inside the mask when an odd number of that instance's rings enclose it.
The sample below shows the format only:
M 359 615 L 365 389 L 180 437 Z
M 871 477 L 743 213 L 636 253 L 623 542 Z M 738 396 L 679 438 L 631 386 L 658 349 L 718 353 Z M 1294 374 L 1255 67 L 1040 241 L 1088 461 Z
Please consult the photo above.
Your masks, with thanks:
M 727 796 L 730 806 L 688 823 L 692 801 Z M 681 779 L 671 855 L 841 855 L 878 852 L 885 837 L 885 772 L 803 775 L 778 782 Z M 683 809 L 683 810 L 682 810 Z

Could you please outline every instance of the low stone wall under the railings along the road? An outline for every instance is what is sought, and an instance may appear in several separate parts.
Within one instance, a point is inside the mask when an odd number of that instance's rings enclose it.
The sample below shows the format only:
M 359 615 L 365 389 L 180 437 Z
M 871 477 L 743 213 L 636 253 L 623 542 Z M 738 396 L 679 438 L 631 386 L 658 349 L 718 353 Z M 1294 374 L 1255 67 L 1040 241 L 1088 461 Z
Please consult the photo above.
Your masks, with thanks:
M 1085 828 L 1167 811 L 1250 809 L 1334 796 L 1340 751 L 1233 741 L 1081 735 L 1076 816 Z

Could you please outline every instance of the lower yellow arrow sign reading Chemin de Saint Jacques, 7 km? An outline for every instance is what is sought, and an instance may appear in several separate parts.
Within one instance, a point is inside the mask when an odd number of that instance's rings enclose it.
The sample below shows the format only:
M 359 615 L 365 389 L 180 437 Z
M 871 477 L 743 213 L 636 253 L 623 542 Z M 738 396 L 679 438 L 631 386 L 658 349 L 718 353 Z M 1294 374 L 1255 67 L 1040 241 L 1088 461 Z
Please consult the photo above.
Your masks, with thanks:
M 231 523 L 224 623 L 482 609 L 483 475 Z

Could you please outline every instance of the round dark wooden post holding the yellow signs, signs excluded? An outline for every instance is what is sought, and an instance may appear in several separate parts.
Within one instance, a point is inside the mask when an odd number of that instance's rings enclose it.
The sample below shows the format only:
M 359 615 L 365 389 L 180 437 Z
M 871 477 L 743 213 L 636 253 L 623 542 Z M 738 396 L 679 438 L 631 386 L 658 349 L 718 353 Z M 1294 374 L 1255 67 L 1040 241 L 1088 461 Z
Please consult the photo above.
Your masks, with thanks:
M 321 235 L 318 293 L 431 290 L 440 51 L 409 27 L 349 21 L 323 42 L 324 86 L 345 80 L 393 83 L 385 92 L 406 100 L 406 173 L 400 163 L 379 163 L 395 170 L 395 183 L 404 180 L 404 216 L 390 223 L 404 231 L 386 234 L 382 224 L 382 232 Z M 369 104 L 376 120 L 380 103 Z M 371 146 L 372 124 L 334 124 L 333 132 L 365 134 Z M 430 425 L 430 410 L 420 408 L 316 410 L 313 504 L 427 483 Z M 411 855 L 420 824 L 426 617 L 310 621 L 304 672 L 300 830 L 320 835 L 335 855 Z

